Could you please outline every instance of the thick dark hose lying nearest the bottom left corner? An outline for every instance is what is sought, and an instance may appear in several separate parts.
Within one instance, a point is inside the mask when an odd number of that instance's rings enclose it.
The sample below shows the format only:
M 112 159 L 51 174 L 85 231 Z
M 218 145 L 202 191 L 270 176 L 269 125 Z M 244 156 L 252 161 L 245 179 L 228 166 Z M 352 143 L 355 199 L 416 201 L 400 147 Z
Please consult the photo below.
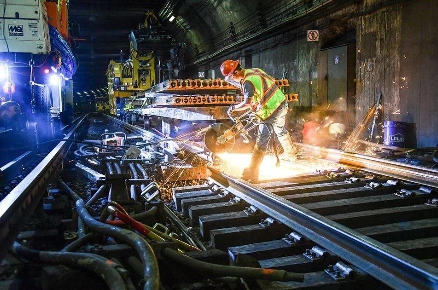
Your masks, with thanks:
M 36 251 L 17 242 L 13 243 L 12 251 L 25 259 L 89 270 L 104 279 L 110 290 L 126 289 L 125 282 L 114 268 L 115 263 L 102 256 L 90 253 Z

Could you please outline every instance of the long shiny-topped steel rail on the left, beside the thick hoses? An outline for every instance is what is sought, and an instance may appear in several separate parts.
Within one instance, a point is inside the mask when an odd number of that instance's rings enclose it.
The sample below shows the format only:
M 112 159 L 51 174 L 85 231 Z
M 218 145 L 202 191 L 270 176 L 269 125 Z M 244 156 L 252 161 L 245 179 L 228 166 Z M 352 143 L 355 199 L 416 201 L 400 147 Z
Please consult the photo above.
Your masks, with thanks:
M 0 202 L 0 261 L 10 249 L 21 228 L 35 210 L 74 139 L 74 132 L 87 117 L 75 120 L 65 137 L 47 156 Z

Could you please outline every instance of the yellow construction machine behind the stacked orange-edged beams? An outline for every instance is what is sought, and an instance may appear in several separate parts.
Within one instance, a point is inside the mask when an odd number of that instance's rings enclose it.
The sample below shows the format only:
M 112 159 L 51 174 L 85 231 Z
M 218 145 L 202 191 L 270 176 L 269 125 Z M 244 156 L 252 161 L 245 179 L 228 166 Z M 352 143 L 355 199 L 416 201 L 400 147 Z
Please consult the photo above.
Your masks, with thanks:
M 178 75 L 179 44 L 161 29 L 152 10 L 144 23 L 129 34 L 130 51 L 126 60 L 111 60 L 107 70 L 109 112 L 122 118 L 126 99 L 155 83 Z

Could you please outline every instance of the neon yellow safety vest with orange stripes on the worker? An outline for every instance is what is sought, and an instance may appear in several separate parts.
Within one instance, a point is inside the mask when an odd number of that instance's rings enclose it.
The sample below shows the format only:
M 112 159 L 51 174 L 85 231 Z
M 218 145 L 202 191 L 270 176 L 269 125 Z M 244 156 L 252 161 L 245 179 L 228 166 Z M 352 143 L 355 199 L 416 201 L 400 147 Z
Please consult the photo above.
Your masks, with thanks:
M 275 80 L 260 69 L 245 70 L 243 82 L 254 86 L 251 110 L 261 120 L 268 119 L 286 100 L 284 93 L 275 84 Z

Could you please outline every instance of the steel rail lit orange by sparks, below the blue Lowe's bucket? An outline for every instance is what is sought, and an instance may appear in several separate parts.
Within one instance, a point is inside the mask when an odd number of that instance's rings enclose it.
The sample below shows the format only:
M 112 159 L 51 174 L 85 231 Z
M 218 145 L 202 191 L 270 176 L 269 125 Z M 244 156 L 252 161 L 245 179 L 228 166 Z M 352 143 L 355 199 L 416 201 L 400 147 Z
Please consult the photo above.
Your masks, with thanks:
M 361 155 L 357 153 L 343 152 L 336 149 L 318 147 L 314 145 L 298 143 L 326 161 L 341 165 L 353 166 L 375 174 L 386 175 L 392 178 L 419 183 L 422 185 L 438 187 L 438 170 L 414 164 L 407 164 L 393 160 Z

